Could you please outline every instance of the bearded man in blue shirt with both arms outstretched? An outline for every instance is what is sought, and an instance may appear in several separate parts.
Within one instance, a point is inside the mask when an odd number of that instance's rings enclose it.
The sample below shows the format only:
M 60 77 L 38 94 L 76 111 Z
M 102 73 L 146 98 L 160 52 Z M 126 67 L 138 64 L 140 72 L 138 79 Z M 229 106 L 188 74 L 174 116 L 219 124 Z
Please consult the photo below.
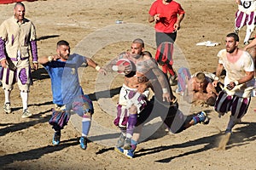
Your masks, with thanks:
M 93 114 L 93 105 L 79 84 L 79 66 L 85 64 L 95 68 L 96 71 L 106 75 L 107 72 L 92 59 L 79 54 L 70 54 L 67 41 L 57 42 L 57 54 L 49 57 L 41 57 L 39 63 L 49 73 L 51 89 L 55 109 L 49 120 L 49 124 L 55 130 L 53 144 L 60 144 L 61 129 L 67 125 L 71 111 L 82 117 L 82 136 L 79 140 L 82 149 L 87 147 L 87 135 L 90 130 L 90 121 Z

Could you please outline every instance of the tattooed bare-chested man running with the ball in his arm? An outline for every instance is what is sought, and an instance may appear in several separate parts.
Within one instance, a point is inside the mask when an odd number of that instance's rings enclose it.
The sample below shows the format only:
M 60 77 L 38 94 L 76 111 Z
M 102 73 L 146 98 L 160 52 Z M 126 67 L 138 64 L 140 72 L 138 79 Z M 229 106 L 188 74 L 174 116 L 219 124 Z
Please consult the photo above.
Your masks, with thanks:
M 131 43 L 131 52 L 119 54 L 118 59 L 112 62 L 113 71 L 125 73 L 125 82 L 119 93 L 118 113 L 114 120 L 114 124 L 121 130 L 117 146 L 124 146 L 125 150 L 131 149 L 131 137 L 137 123 L 137 114 L 147 105 L 148 87 L 151 84 L 148 79 L 151 77 L 146 77 L 145 74 L 152 71 L 159 79 L 163 101 L 171 102 L 176 99 L 154 59 L 147 52 L 144 53 L 143 49 L 143 40 L 137 38 Z M 130 65 L 126 65 L 129 62 Z

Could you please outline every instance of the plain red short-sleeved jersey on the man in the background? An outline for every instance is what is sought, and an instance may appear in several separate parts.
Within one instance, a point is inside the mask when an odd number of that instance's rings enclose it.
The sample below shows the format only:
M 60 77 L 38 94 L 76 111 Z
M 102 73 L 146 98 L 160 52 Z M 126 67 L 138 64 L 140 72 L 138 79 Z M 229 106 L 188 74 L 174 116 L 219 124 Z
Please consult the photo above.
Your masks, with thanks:
M 185 14 L 181 5 L 175 1 L 169 4 L 162 3 L 162 0 L 156 0 L 151 5 L 148 12 L 151 16 L 160 14 L 160 20 L 154 25 L 155 31 L 171 33 L 174 30 L 173 26 L 177 21 L 177 14 Z

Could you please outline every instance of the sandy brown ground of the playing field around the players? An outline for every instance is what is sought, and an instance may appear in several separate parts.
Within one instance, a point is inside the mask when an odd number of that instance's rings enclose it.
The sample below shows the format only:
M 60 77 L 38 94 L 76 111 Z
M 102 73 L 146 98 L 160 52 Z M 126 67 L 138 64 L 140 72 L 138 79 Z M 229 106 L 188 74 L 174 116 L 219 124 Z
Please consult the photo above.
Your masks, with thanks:
M 218 50 L 224 48 L 225 35 L 233 31 L 235 1 L 178 2 L 186 16 L 177 34 L 174 67 L 185 65 L 192 73 L 215 71 Z M 154 25 L 148 23 L 151 3 L 152 0 L 25 2 L 26 17 L 37 27 L 39 56 L 54 54 L 55 43 L 65 39 L 71 43 L 74 53 L 92 57 L 100 65 L 130 48 L 135 37 L 143 38 L 147 50 L 154 54 Z M 13 14 L 13 4 L 1 4 L 0 11 L 2 22 Z M 117 25 L 115 20 L 124 23 Z M 242 42 L 245 29 L 240 35 Z M 195 45 L 205 41 L 220 42 L 220 45 Z M 79 148 L 79 121 L 73 116 L 62 131 L 61 144 L 53 147 L 53 131 L 48 124 L 52 108 L 50 81 L 40 65 L 40 69 L 33 72 L 29 99 L 29 109 L 34 116 L 21 118 L 22 105 L 16 86 L 11 94 L 13 113 L 6 115 L 0 110 L 0 169 L 256 169 L 254 98 L 247 115 L 234 129 L 227 150 L 216 150 L 216 147 L 229 115 L 218 118 L 212 107 L 185 105 L 179 99 L 184 112 L 207 111 L 211 122 L 172 134 L 166 133 L 156 120 L 148 124 L 149 131 L 138 144 L 134 159 L 119 155 L 113 150 L 112 142 L 118 131 L 112 122 L 122 80 L 111 74 L 101 77 L 91 68 L 82 68 L 81 84 L 94 100 L 96 110 L 90 131 L 92 142 L 87 150 Z M 3 105 L 3 91 L 0 91 L 0 100 Z

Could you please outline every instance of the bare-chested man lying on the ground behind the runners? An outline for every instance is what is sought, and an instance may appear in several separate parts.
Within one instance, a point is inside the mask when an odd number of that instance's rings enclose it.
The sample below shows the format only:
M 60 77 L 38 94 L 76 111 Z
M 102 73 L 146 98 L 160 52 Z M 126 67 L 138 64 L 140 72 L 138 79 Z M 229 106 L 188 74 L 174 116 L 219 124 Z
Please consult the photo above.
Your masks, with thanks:
M 201 102 L 213 106 L 218 93 L 212 85 L 212 80 L 203 72 L 198 72 L 188 82 L 188 88 L 183 96 L 189 103 Z

